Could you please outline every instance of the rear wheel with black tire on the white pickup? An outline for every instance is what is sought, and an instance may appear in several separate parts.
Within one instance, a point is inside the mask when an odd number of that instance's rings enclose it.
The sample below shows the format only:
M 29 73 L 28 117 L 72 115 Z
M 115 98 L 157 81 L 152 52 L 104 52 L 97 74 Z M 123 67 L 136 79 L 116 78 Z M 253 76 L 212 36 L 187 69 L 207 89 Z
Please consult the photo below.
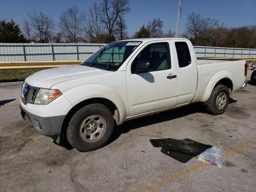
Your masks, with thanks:
M 212 115 L 220 115 L 225 112 L 228 107 L 230 98 L 229 90 L 224 85 L 217 85 L 208 99 L 206 111 Z

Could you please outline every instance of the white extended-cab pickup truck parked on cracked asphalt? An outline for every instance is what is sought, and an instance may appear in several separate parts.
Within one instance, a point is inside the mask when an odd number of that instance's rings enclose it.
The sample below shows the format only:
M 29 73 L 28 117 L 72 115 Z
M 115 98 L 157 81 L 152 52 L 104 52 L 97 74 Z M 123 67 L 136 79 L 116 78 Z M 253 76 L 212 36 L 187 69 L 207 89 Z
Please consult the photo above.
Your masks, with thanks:
M 246 86 L 245 61 L 197 60 L 188 39 L 112 42 L 80 65 L 26 78 L 21 113 L 40 134 L 79 151 L 102 147 L 115 125 L 203 102 L 222 114 L 230 94 Z

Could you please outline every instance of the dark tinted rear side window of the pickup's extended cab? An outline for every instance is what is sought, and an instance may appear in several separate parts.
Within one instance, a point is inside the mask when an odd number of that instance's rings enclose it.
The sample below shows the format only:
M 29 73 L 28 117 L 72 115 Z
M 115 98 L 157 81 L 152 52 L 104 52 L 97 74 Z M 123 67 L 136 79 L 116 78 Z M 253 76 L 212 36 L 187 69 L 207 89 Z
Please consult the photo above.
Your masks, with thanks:
M 178 55 L 179 67 L 186 67 L 191 64 L 190 52 L 186 42 L 175 42 Z

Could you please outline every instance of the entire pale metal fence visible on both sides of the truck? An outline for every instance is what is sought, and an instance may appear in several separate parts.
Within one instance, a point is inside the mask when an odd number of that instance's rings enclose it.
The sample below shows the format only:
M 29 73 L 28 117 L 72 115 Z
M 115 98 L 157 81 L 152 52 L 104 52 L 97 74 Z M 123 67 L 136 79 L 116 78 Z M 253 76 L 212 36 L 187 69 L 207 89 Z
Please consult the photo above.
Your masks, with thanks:
M 0 43 L 0 62 L 85 60 L 105 44 Z M 256 49 L 194 46 L 197 57 L 256 57 Z M 118 56 L 122 52 L 115 52 Z

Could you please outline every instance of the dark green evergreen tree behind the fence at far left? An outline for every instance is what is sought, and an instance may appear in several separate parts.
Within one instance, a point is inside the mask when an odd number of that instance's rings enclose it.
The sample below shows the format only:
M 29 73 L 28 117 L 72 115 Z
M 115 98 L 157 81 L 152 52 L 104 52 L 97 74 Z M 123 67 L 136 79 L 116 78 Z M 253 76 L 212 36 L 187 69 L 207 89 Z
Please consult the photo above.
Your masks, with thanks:
M 11 20 L 6 22 L 5 20 L 0 21 L 0 42 L 1 43 L 24 43 L 24 38 L 19 25 Z

